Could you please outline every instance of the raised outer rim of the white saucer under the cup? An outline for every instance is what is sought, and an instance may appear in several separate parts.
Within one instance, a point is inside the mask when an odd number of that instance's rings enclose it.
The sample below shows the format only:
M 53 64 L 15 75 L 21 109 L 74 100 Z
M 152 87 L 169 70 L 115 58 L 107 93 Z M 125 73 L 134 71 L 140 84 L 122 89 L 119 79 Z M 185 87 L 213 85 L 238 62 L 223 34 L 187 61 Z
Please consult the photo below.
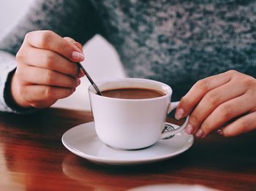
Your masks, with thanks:
M 170 154 L 160 155 L 160 156 L 157 156 L 157 157 L 150 157 L 150 158 L 147 158 L 147 159 L 136 159 L 136 160 L 131 160 L 131 159 L 129 159 L 129 160 L 109 159 L 109 158 L 106 158 L 106 157 L 97 157 L 97 156 L 94 156 L 94 155 L 88 155 L 85 152 L 81 152 L 80 150 L 76 149 L 75 147 L 71 146 L 70 144 L 68 144 L 67 142 L 64 141 L 64 136 L 65 135 L 67 135 L 70 131 L 74 130 L 75 128 L 81 128 L 83 125 L 90 125 L 92 127 L 89 126 L 89 128 L 94 128 L 94 122 L 93 121 L 92 122 L 85 122 L 85 123 L 82 123 L 80 125 L 76 125 L 76 126 L 70 128 L 69 130 L 67 130 L 62 135 L 61 142 L 62 142 L 62 144 L 64 144 L 64 147 L 66 147 L 73 154 L 78 155 L 80 157 L 83 157 L 86 160 L 90 160 L 91 162 L 94 162 L 94 163 L 105 163 L 105 164 L 110 164 L 110 165 L 136 165 L 136 164 L 142 164 L 142 163 L 154 163 L 154 162 L 157 162 L 157 161 L 167 160 L 167 159 L 170 159 L 172 157 L 176 157 L 177 155 L 180 155 L 181 153 L 187 151 L 187 149 L 192 147 L 192 145 L 194 144 L 194 141 L 195 141 L 194 136 L 187 135 L 187 136 L 189 136 L 189 140 L 187 141 L 186 146 L 182 147 L 181 149 L 178 149 L 178 151 L 176 151 L 176 152 L 170 152 Z M 102 142 L 102 144 L 104 144 L 104 143 Z M 150 148 L 150 147 L 148 147 L 148 148 Z M 139 151 L 140 150 L 138 150 L 138 152 Z M 121 150 L 121 152 L 134 152 L 134 151 Z

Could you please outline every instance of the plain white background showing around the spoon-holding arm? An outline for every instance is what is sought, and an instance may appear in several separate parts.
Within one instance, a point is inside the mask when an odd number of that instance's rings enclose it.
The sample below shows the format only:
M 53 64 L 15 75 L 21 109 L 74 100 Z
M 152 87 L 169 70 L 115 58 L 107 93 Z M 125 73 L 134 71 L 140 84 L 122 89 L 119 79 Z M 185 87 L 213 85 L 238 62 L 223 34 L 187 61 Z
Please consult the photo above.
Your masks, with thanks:
M 12 26 L 18 22 L 20 17 L 26 14 L 31 4 L 35 0 L 0 0 L 0 38 L 2 38 Z M 125 77 L 124 70 L 118 59 L 116 50 L 101 36 L 94 36 L 84 47 L 83 52 L 86 61 L 83 66 L 94 79 L 94 81 L 110 78 Z M 86 77 L 81 79 L 81 85 L 69 98 L 64 98 L 56 102 L 53 106 L 89 110 L 89 95 L 87 87 L 89 81 Z

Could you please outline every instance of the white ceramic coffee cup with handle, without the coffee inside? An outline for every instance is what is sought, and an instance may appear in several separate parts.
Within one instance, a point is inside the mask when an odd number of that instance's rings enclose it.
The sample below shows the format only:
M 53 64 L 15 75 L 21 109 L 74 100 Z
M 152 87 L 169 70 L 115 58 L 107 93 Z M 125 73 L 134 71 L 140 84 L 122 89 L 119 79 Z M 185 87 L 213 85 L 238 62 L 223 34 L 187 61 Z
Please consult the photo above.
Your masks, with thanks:
M 89 87 L 91 110 L 95 130 L 99 139 L 116 149 L 142 149 L 180 132 L 189 120 L 175 130 L 163 132 L 167 114 L 178 106 L 170 102 L 172 89 L 162 82 L 150 79 L 124 78 L 107 79 L 97 82 L 99 90 L 121 88 L 146 88 L 158 90 L 165 95 L 157 98 L 123 99 L 97 95 L 94 87 Z

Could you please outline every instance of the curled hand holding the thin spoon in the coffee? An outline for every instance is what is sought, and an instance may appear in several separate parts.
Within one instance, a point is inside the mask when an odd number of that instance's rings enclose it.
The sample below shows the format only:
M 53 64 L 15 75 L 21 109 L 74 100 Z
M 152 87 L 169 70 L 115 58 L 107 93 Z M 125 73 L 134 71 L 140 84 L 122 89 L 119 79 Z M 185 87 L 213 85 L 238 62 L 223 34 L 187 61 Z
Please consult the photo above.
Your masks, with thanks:
M 84 74 L 76 63 L 83 61 L 83 50 L 70 39 L 53 31 L 26 34 L 11 82 L 12 98 L 18 106 L 49 107 L 80 85 Z

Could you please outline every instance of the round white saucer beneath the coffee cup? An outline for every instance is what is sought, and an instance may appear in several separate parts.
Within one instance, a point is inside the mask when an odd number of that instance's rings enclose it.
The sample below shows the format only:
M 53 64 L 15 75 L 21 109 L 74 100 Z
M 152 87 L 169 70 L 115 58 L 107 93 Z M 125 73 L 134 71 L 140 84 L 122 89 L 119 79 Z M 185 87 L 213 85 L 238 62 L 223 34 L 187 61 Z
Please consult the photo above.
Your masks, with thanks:
M 159 140 L 146 149 L 117 150 L 100 141 L 94 129 L 94 122 L 87 122 L 67 130 L 61 141 L 70 152 L 95 163 L 136 165 L 175 157 L 192 146 L 194 137 L 181 131 L 173 138 Z

